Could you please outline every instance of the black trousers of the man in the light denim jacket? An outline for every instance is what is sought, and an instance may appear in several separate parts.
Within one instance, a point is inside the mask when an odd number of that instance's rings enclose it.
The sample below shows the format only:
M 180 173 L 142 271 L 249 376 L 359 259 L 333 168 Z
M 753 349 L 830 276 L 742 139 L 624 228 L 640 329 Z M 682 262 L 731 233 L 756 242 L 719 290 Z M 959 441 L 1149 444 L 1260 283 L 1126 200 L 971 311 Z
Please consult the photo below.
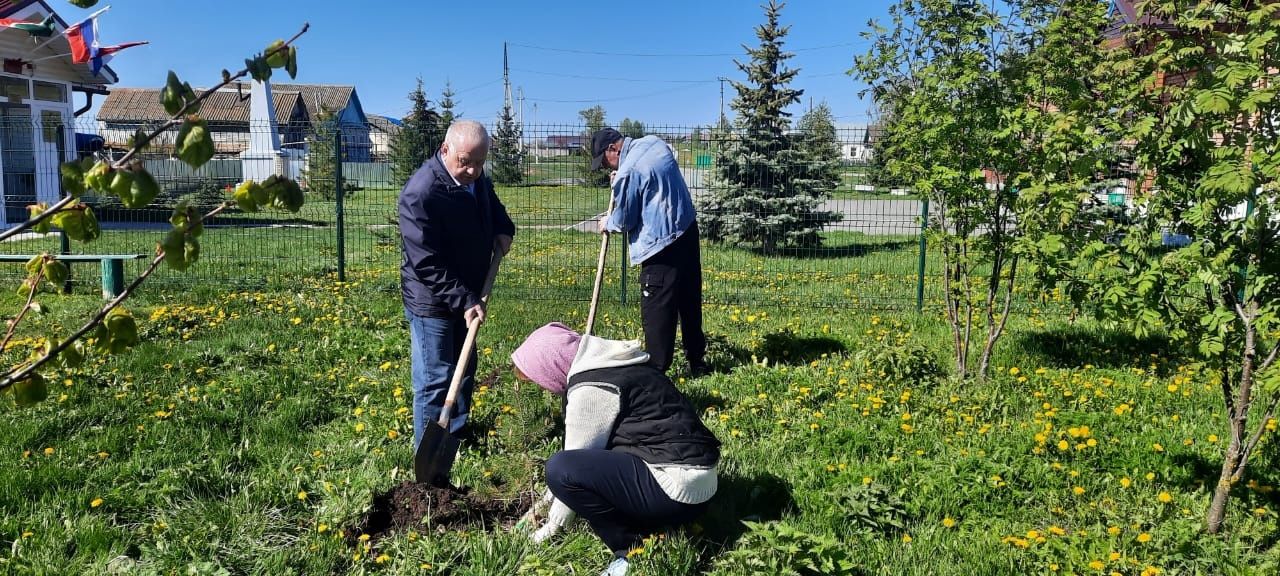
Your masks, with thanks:
M 676 323 L 690 367 L 703 366 L 703 257 L 698 223 L 671 246 L 640 264 L 640 321 L 649 361 L 658 370 L 671 367 L 676 351 Z

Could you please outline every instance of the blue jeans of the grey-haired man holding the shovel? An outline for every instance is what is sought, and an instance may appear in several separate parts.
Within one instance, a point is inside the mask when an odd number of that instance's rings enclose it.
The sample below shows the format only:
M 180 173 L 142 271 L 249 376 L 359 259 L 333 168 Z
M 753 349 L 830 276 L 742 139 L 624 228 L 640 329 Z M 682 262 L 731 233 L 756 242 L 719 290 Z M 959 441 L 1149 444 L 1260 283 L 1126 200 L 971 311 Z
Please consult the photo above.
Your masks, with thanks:
M 467 326 L 461 317 L 426 317 L 404 311 L 408 319 L 410 358 L 413 378 L 413 452 L 422 442 L 426 426 L 440 420 L 444 397 L 449 393 L 453 367 L 462 355 L 462 340 Z M 476 355 L 471 351 L 467 372 L 462 378 L 458 397 L 449 417 L 449 431 L 458 431 L 467 424 L 471 411 L 471 392 L 475 389 Z

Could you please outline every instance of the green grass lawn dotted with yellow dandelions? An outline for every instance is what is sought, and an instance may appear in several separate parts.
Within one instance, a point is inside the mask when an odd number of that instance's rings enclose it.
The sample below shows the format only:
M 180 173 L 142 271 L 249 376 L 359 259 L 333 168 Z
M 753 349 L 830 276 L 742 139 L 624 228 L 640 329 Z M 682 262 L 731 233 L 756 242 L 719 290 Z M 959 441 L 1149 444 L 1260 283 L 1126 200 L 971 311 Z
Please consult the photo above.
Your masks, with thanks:
M 375 207 L 394 195 L 366 197 L 351 218 L 381 225 Z M 129 303 L 145 338 L 131 353 L 55 374 L 37 407 L 0 401 L 0 573 L 596 573 L 607 552 L 582 525 L 553 545 L 425 525 L 347 543 L 372 498 L 411 475 L 399 248 L 374 230 L 344 284 L 314 229 L 210 233 L 204 274 L 270 282 L 156 284 Z M 131 234 L 95 250 L 150 242 Z M 675 374 L 724 444 L 721 492 L 698 525 L 637 550 L 632 573 L 1280 570 L 1274 431 L 1226 534 L 1202 532 L 1229 440 L 1211 374 L 1164 342 L 1032 310 L 1011 321 L 989 381 L 922 378 L 919 355 L 947 353 L 937 306 L 863 310 L 910 294 L 900 284 L 914 283 L 913 241 L 828 243 L 806 259 L 705 250 L 721 371 Z M 479 343 L 479 374 L 498 379 L 476 396 L 483 440 L 454 468 L 476 494 L 534 489 L 538 458 L 559 442 L 558 401 L 517 383 L 507 357 L 541 324 L 581 326 L 598 246 L 594 234 L 526 230 L 503 268 Z M 296 271 L 259 260 L 283 247 Z M 635 278 L 623 284 L 622 270 L 611 265 L 607 293 L 628 285 L 631 300 L 611 297 L 596 326 L 637 338 Z M 6 357 L 69 332 L 101 303 L 92 292 L 42 297 L 51 311 L 23 324 Z M 828 298 L 849 306 L 806 306 Z M 910 351 L 924 352 L 884 360 Z M 854 570 L 803 567 L 841 561 Z

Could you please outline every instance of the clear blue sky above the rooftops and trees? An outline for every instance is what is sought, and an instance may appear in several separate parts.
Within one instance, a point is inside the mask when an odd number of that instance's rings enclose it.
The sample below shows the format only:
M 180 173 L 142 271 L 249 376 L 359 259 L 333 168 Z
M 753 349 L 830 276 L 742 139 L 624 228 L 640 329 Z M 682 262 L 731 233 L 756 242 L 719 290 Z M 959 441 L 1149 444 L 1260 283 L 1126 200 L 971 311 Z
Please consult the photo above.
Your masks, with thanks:
M 60 0 L 51 4 L 68 22 L 87 14 Z M 786 5 L 786 47 L 795 51 L 788 64 L 800 68 L 792 86 L 805 91 L 803 105 L 826 101 L 837 122 L 867 122 L 859 84 L 845 72 L 865 50 L 859 33 L 867 20 L 883 19 L 888 4 Z M 119 86 L 160 86 L 169 69 L 192 86 L 207 86 L 219 70 L 239 69 L 244 56 L 292 36 L 303 22 L 311 31 L 298 44 L 297 82 L 353 84 L 369 114 L 403 115 L 406 95 L 421 77 L 429 99 L 436 100 L 448 79 L 463 116 L 494 118 L 503 100 L 506 41 L 526 122 L 577 123 L 579 110 L 600 104 L 611 124 L 632 118 L 694 125 L 719 114 L 717 78 L 744 79 L 733 60 L 745 61 L 744 44 L 758 44 L 754 27 L 763 10 L 746 0 L 122 0 L 99 19 L 99 31 L 102 44 L 151 41 L 111 61 Z M 727 113 L 733 93 L 726 83 Z

